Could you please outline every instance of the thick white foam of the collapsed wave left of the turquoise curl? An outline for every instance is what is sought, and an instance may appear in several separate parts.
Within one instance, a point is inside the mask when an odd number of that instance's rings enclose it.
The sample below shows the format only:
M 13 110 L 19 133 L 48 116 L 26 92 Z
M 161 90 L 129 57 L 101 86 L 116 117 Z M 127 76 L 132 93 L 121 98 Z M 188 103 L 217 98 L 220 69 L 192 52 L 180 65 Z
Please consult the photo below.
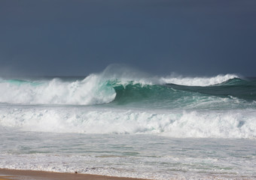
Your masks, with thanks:
M 96 74 L 84 80 L 63 82 L 59 79 L 41 83 L 0 83 L 0 102 L 9 104 L 105 104 L 114 100 L 114 89 Z

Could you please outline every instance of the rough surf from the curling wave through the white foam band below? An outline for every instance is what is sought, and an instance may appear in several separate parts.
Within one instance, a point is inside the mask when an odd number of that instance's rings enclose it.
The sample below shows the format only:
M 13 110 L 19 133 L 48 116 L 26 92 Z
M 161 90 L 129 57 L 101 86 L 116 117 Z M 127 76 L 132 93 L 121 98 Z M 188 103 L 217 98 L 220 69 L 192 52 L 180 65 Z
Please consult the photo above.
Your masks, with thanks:
M 0 78 L 0 126 L 255 138 L 255 80 L 233 74 L 164 78 L 111 67 L 84 78 Z

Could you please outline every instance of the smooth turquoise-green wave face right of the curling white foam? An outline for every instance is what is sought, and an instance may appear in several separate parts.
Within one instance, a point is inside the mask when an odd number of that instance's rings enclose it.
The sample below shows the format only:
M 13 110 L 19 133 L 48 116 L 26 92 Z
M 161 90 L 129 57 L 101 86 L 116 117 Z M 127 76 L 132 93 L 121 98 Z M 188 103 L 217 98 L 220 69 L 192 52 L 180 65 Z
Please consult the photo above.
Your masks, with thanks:
M 117 93 L 112 105 L 151 108 L 236 109 L 255 107 L 255 81 L 228 80 L 215 86 L 108 83 Z

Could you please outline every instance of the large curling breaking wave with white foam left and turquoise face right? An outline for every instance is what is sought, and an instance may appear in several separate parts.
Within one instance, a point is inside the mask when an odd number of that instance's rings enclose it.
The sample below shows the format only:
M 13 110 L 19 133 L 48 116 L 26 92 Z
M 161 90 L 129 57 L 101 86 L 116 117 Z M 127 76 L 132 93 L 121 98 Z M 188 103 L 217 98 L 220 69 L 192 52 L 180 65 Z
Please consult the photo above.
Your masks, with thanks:
M 217 77 L 146 77 L 145 74 L 91 74 L 84 80 L 5 80 L 0 79 L 2 104 L 58 105 L 138 105 L 148 107 L 200 107 L 233 98 L 255 101 L 255 84 L 241 85 L 236 75 Z M 240 84 L 239 84 L 240 83 Z M 182 85 L 182 86 L 181 86 Z M 186 86 L 184 86 L 186 85 Z M 249 88 L 248 88 L 249 87 Z M 237 101 L 237 99 L 235 100 Z M 221 105 L 221 104 L 219 104 Z M 211 105 L 212 106 L 212 105 Z M 222 107 L 222 106 L 221 106 Z

